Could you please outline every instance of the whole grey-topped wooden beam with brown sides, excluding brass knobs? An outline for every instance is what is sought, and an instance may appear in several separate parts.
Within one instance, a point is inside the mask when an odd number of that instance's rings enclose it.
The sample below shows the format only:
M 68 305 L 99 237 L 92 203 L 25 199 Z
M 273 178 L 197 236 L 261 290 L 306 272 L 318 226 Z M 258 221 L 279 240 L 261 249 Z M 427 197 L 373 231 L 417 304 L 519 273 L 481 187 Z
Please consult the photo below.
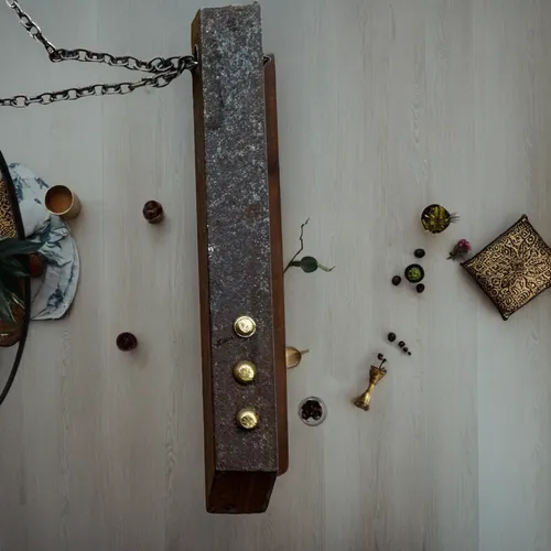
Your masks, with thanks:
M 259 6 L 199 10 L 192 45 L 207 510 L 262 512 L 288 446 L 274 73 L 267 90 Z M 242 315 L 249 338 L 234 328 Z M 257 367 L 247 386 L 233 376 L 242 360 Z M 237 422 L 244 408 L 253 430 Z

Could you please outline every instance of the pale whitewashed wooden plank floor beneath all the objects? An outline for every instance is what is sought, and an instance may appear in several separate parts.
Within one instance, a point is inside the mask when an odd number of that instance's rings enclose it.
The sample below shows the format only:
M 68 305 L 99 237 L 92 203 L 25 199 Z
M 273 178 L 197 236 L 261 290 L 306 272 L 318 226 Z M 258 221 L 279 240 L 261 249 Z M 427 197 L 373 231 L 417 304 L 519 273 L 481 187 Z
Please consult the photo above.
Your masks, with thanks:
M 60 46 L 190 53 L 210 0 L 24 0 Z M 213 3 L 214 4 L 214 3 Z M 32 326 L 0 411 L 1 551 L 549 551 L 551 293 L 503 322 L 456 263 L 527 213 L 551 241 L 550 0 L 264 0 L 278 56 L 291 468 L 204 511 L 192 94 L 0 109 L 0 148 L 83 199 L 71 315 Z M 0 6 L 0 96 L 136 75 L 50 64 Z M 150 227 L 145 201 L 166 223 Z M 461 224 L 420 228 L 440 202 Z M 426 291 L 390 278 L 424 247 Z M 411 358 L 386 343 L 395 331 Z M 115 347 L 121 331 L 136 356 Z M 374 407 L 350 399 L 378 352 Z M 12 352 L 0 353 L 0 378 Z M 299 401 L 323 398 L 309 428 Z

